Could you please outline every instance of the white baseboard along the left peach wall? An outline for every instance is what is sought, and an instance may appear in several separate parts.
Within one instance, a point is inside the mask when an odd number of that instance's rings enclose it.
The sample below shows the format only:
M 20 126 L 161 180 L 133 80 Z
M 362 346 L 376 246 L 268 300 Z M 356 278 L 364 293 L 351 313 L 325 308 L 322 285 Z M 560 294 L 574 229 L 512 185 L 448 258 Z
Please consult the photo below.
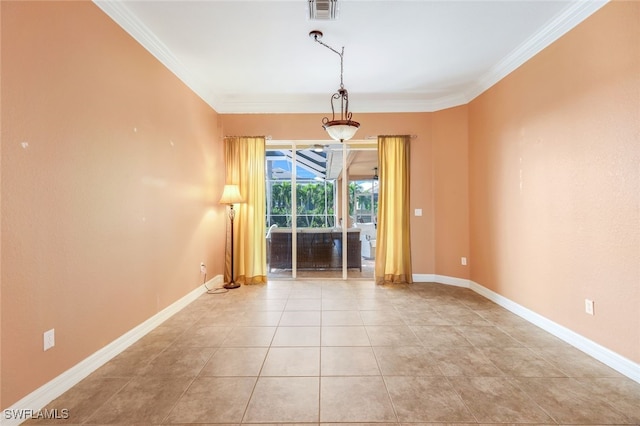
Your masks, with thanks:
M 221 284 L 222 282 L 222 275 L 218 275 L 207 281 L 206 285 L 211 288 L 215 285 Z M 198 288 L 167 306 L 165 309 L 158 312 L 142 324 L 129 330 L 107 346 L 60 374 L 55 379 L 45 383 L 29 395 L 22 398 L 20 401 L 13 404 L 11 407 L 3 410 L 0 414 L 2 419 L 0 423 L 7 426 L 19 425 L 28 419 L 28 417 L 26 417 L 28 413 L 33 413 L 34 415 L 37 414 L 37 412 L 43 409 L 48 403 L 71 389 L 82 379 L 102 367 L 116 355 L 120 354 L 133 343 L 137 342 L 140 338 L 144 337 L 147 333 L 169 319 L 172 315 L 179 312 L 189 303 L 196 300 L 206 291 L 207 289 L 204 285 L 198 286 Z

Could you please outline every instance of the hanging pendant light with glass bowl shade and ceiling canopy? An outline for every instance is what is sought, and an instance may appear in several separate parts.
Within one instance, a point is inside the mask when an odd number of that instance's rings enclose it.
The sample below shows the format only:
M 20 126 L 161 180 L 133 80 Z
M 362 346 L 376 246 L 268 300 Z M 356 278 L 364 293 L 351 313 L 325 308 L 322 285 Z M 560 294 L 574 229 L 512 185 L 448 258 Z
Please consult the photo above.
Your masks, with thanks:
M 360 123 L 351 119 L 352 114 L 349 112 L 349 93 L 347 92 L 347 89 L 345 89 L 342 80 L 344 69 L 344 47 L 340 52 L 338 52 L 331 46 L 323 43 L 322 41 L 320 41 L 320 39 L 322 38 L 322 32 L 318 30 L 311 31 L 309 33 L 309 37 L 312 37 L 316 42 L 320 43 L 327 49 L 340 56 L 340 88 L 331 96 L 331 120 L 329 120 L 328 117 L 324 117 L 322 119 L 322 127 L 324 127 L 324 129 L 332 139 L 340 142 L 347 141 L 356 134 L 356 131 L 360 127 Z M 333 102 L 338 99 L 340 100 L 340 119 L 336 120 L 336 110 Z

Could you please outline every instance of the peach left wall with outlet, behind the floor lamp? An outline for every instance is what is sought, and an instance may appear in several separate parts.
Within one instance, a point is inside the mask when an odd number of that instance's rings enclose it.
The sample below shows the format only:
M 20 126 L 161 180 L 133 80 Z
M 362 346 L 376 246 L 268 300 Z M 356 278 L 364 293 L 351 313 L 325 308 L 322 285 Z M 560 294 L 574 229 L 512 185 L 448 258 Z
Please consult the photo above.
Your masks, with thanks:
M 91 2 L 0 4 L 6 408 L 222 274 L 226 213 L 215 111 Z

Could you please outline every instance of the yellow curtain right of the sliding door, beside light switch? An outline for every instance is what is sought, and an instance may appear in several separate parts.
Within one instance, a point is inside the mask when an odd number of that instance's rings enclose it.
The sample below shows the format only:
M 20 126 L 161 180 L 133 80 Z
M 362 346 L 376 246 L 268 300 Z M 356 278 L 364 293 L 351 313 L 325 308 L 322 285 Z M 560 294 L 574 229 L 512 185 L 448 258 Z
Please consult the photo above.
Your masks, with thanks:
M 375 277 L 378 284 L 409 284 L 409 136 L 378 137 L 378 232 Z

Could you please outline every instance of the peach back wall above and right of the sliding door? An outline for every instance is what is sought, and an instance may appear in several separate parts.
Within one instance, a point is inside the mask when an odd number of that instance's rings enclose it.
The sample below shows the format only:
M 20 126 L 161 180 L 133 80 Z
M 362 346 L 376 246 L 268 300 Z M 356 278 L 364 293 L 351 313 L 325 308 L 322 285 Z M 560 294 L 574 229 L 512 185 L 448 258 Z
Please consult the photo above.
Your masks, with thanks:
M 356 94 L 352 94 L 355 99 Z M 273 140 L 328 140 L 322 114 L 222 114 L 226 135 Z M 466 107 L 439 113 L 358 114 L 356 138 L 408 134 L 411 139 L 411 249 L 414 274 L 467 278 L 455 265 L 468 252 Z M 440 188 L 439 185 L 442 185 Z M 423 216 L 413 216 L 416 208 Z M 439 228 L 440 227 L 440 228 Z

